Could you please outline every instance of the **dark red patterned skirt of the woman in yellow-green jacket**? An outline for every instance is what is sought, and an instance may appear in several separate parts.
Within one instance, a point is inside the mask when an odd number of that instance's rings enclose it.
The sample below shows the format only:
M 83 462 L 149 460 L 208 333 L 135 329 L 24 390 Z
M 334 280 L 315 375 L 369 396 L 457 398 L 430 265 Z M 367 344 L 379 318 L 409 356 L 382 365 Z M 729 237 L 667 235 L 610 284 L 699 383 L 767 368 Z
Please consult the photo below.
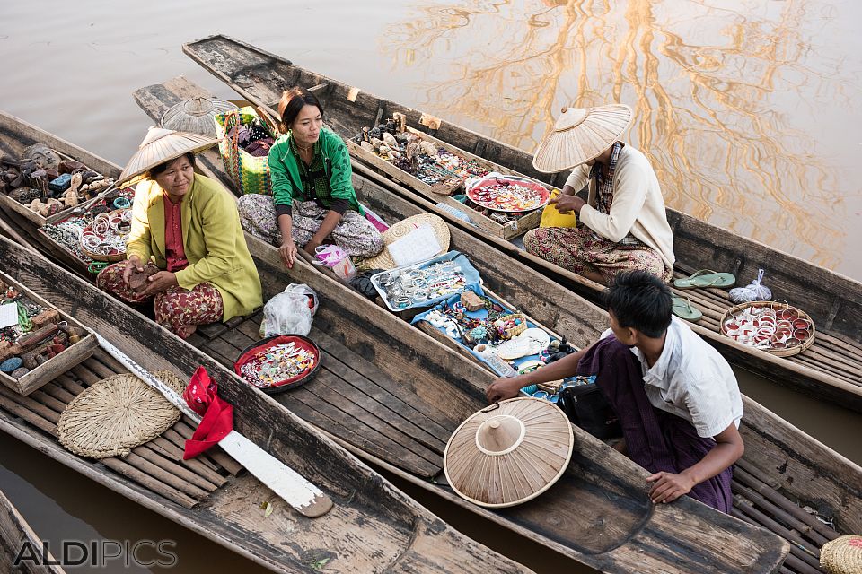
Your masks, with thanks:
M 222 294 L 210 283 L 198 283 L 192 289 L 173 286 L 171 289 L 149 297 L 128 288 L 123 281 L 128 261 L 108 265 L 96 275 L 96 286 L 127 303 L 153 301 L 155 322 L 185 339 L 195 332 L 198 325 L 222 320 L 224 301 Z M 147 265 L 153 265 L 148 263 Z

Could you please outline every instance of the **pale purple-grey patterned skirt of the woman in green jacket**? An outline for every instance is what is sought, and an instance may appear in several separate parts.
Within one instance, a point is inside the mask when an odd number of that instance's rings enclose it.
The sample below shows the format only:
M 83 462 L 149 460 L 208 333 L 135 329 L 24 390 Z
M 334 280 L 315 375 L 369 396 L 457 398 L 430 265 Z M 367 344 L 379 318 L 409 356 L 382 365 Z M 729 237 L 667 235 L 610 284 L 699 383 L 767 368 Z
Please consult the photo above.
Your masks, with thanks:
M 272 196 L 246 194 L 237 200 L 236 207 L 240 212 L 242 229 L 272 245 L 281 245 L 281 230 L 276 221 L 276 206 Z M 328 211 L 313 201 L 294 202 L 291 234 L 296 245 L 303 246 L 312 239 Z M 332 243 L 353 257 L 374 257 L 383 250 L 380 231 L 352 209 L 341 216 L 330 238 Z

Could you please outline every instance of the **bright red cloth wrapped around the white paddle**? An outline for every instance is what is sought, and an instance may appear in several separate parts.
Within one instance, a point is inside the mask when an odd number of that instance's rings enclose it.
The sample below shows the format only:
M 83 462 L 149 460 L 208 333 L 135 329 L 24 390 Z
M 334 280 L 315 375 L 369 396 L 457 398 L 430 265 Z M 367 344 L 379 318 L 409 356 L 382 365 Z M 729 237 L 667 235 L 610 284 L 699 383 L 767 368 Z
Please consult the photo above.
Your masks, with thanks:
M 209 378 L 206 369 L 198 367 L 182 393 L 191 410 L 204 417 L 191 439 L 186 440 L 184 460 L 197 457 L 233 431 L 233 406 L 219 398 L 217 391 L 216 381 Z

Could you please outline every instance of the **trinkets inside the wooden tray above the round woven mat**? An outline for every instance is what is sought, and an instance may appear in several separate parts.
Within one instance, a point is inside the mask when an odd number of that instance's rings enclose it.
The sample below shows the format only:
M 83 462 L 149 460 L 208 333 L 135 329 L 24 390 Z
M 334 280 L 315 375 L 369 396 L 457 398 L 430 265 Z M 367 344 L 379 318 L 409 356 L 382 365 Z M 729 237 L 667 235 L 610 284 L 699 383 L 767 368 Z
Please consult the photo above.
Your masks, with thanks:
M 83 330 L 61 320 L 57 309 L 46 309 L 0 280 L 4 316 L 10 314 L 5 307 L 8 305 L 14 307 L 17 320 L 13 318 L 12 325 L 0 329 L 0 372 L 12 378 L 22 378 L 84 335 Z

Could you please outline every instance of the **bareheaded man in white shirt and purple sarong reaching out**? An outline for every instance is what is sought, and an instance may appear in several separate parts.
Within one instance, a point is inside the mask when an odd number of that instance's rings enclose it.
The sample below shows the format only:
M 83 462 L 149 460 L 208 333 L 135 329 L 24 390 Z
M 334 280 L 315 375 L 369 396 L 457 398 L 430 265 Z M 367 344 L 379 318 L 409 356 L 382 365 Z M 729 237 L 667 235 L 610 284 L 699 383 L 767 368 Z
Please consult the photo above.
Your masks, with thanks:
M 744 451 L 743 401 L 718 352 L 671 315 L 671 292 L 643 271 L 605 291 L 611 329 L 592 346 L 517 378 L 498 378 L 488 401 L 574 374 L 596 383 L 620 418 L 624 451 L 653 474 L 655 503 L 683 494 L 729 513 L 732 465 Z

